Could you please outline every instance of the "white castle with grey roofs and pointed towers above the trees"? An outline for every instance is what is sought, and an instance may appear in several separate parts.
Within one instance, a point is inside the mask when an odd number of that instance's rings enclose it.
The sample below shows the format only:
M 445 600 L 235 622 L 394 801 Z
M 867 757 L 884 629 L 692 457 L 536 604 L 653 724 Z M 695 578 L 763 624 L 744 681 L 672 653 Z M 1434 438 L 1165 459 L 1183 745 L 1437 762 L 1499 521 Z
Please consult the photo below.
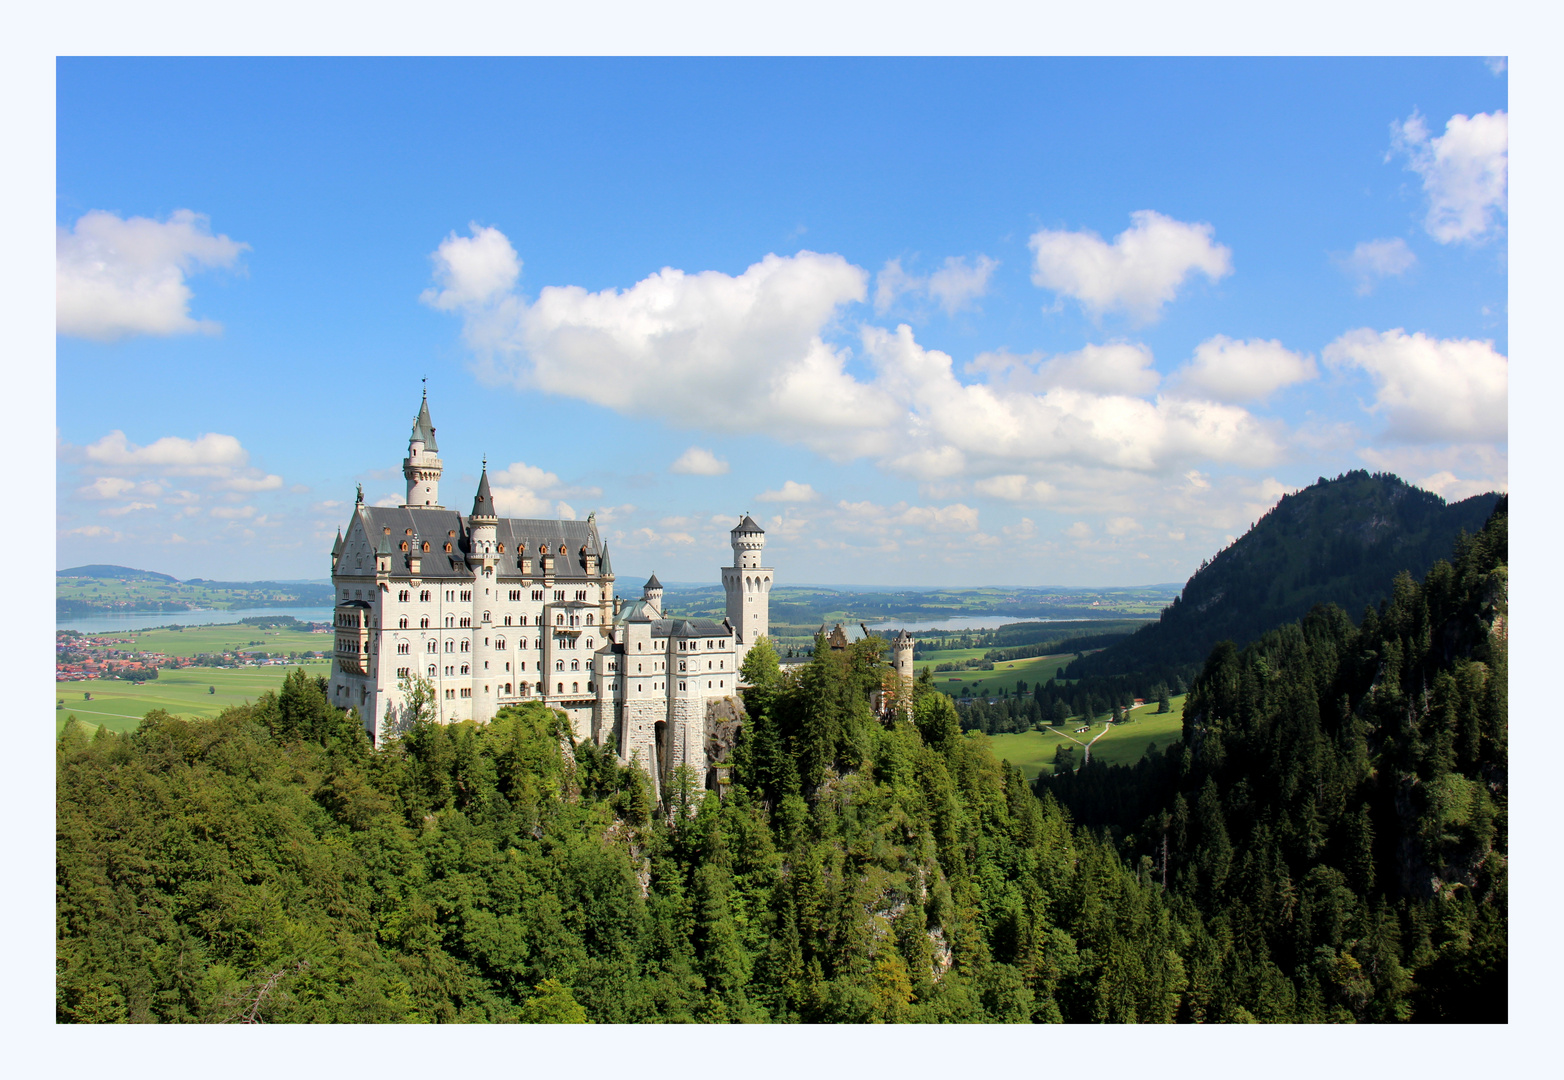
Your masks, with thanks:
M 360 488 L 332 545 L 332 703 L 357 708 L 374 739 L 404 717 L 400 683 L 414 675 L 433 686 L 441 724 L 543 702 L 577 741 L 612 736 L 658 791 L 679 766 L 704 781 L 707 705 L 737 694 L 744 655 L 769 630 L 765 531 L 744 516 L 730 533 L 723 622 L 669 619 L 655 574 L 638 600 L 615 597 L 594 514 L 499 517 L 486 461 L 472 513 L 441 506 L 438 452 L 425 392 L 402 461 L 407 502 L 366 506 Z

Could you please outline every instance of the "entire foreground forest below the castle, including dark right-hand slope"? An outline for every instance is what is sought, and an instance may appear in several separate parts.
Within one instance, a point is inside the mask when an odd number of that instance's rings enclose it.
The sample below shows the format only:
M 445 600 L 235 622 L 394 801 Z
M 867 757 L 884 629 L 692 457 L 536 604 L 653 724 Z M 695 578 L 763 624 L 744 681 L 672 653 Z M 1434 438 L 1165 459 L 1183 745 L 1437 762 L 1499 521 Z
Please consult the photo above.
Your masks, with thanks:
M 319 680 L 67 727 L 56 1017 L 1505 1017 L 1505 517 L 1362 627 L 1190 688 L 1186 738 L 1031 789 L 882 642 L 746 661 L 723 794 L 657 806 L 558 714 L 372 750 Z

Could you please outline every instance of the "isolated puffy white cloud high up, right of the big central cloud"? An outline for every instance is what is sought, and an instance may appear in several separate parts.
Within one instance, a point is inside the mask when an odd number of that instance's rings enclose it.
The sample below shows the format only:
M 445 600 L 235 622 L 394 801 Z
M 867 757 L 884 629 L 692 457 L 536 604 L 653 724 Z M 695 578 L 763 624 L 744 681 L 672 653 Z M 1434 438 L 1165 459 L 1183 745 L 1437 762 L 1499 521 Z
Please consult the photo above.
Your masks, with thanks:
M 1217 281 L 1232 274 L 1232 252 L 1212 241 L 1206 224 L 1179 222 L 1137 209 L 1112 244 L 1092 231 L 1032 234 L 1032 281 L 1081 302 L 1093 316 L 1125 311 L 1150 322 L 1190 274 Z

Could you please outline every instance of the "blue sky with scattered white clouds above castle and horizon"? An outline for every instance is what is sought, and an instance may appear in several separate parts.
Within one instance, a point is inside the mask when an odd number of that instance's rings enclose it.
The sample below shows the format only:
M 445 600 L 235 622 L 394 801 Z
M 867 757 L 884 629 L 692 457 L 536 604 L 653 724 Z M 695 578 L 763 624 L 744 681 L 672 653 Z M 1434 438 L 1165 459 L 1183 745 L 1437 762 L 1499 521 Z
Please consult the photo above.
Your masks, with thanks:
M 58 564 L 324 577 L 399 500 L 621 577 L 1186 578 L 1289 489 L 1508 483 L 1508 72 L 64 59 Z

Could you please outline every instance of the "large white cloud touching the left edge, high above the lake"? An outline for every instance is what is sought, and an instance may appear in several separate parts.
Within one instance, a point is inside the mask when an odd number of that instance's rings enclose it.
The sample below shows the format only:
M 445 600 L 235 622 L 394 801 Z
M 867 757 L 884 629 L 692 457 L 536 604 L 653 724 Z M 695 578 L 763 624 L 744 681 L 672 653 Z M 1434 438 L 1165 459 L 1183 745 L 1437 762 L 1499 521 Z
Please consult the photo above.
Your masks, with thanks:
M 55 330 L 94 341 L 216 333 L 216 322 L 191 317 L 185 280 L 235 266 L 249 247 L 213 236 L 206 216 L 189 209 L 163 222 L 88 211 L 55 228 Z

